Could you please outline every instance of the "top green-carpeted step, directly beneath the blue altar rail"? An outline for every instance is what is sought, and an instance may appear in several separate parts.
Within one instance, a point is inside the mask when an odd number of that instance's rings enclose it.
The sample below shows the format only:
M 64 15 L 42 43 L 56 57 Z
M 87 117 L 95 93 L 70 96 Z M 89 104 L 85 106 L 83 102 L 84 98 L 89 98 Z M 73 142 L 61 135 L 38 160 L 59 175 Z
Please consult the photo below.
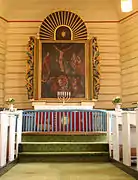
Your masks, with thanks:
M 23 133 L 23 142 L 102 142 L 106 133 Z

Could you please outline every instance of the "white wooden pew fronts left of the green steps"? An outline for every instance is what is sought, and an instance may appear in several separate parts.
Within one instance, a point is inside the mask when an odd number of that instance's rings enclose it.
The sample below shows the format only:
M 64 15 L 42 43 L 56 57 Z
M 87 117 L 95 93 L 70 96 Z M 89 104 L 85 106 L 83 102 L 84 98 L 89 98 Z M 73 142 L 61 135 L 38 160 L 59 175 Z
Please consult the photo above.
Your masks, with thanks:
M 16 126 L 17 126 L 17 132 L 15 132 Z M 21 133 L 22 133 L 22 111 L 16 111 L 16 112 L 1 111 L 0 112 L 0 167 L 5 166 L 7 160 L 8 162 L 12 162 L 15 159 L 15 155 L 17 157 L 18 145 L 21 142 Z M 16 149 L 15 149 L 15 144 L 16 144 Z

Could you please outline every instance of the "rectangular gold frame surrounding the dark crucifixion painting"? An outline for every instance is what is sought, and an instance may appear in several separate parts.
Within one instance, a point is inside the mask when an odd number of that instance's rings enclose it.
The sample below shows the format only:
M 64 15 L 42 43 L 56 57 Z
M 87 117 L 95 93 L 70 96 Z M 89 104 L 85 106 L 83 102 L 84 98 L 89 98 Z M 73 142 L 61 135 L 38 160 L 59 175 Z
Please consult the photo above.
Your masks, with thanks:
M 57 98 L 41 98 L 41 63 L 42 63 L 42 43 L 84 43 L 85 44 L 85 98 L 72 98 L 72 101 L 80 102 L 82 100 L 90 100 L 92 89 L 90 88 L 90 58 L 89 58 L 89 41 L 41 41 L 36 42 L 36 58 L 34 61 L 34 99 L 44 101 L 57 101 Z

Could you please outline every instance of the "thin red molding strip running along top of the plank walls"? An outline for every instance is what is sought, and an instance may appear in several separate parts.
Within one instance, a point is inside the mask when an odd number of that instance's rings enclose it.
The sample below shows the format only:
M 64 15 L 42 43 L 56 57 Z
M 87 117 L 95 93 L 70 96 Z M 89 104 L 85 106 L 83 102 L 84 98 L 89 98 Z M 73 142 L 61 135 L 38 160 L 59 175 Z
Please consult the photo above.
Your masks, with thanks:
M 133 16 L 135 16 L 136 14 L 138 14 L 138 10 L 136 10 L 135 12 L 132 12 L 131 14 L 129 14 L 128 16 L 126 16 L 126 17 L 124 17 L 124 18 L 121 18 L 120 20 L 106 20 L 106 21 L 101 21 L 101 20 L 92 20 L 92 21 L 90 21 L 90 20 L 86 20 L 86 21 L 84 21 L 84 23 L 86 23 L 86 24 L 90 24 L 90 23 L 121 23 L 121 22 L 123 22 L 123 21 L 127 21 L 127 20 L 129 20 L 129 19 L 131 19 L 131 18 L 133 18 Z M 11 23 L 11 22 L 22 22 L 22 23 L 26 23 L 26 22 L 29 22 L 29 23 L 36 23 L 36 22 L 43 22 L 42 20 L 7 20 L 7 19 L 5 19 L 4 17 L 2 17 L 2 16 L 0 16 L 0 19 L 1 20 L 3 20 L 3 21 L 5 21 L 5 22 L 8 22 L 8 23 Z

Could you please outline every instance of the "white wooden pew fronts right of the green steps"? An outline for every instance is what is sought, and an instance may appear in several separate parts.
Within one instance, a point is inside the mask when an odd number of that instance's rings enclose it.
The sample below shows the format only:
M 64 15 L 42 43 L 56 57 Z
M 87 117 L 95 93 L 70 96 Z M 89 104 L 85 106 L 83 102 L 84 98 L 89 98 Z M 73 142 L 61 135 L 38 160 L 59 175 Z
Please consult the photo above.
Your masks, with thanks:
M 122 146 L 123 164 L 131 166 L 131 148 L 135 145 L 138 155 L 138 109 L 136 111 L 110 111 L 108 114 L 110 156 L 113 150 L 113 159 L 120 161 L 120 147 Z

